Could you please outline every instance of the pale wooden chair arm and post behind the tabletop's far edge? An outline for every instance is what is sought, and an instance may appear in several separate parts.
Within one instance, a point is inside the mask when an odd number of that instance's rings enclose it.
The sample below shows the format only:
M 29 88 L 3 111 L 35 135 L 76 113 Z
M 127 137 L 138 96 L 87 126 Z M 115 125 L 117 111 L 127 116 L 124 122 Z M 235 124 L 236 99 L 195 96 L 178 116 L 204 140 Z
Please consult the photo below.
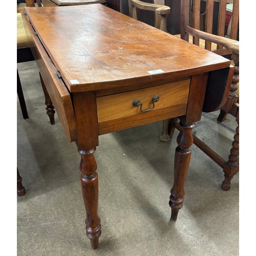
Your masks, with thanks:
M 139 0 L 128 0 L 128 5 L 130 17 L 138 19 L 137 12 L 139 10 L 152 11 L 154 12 L 154 27 L 165 32 L 167 31 L 166 16 L 170 13 L 170 8 L 168 6 L 145 3 Z

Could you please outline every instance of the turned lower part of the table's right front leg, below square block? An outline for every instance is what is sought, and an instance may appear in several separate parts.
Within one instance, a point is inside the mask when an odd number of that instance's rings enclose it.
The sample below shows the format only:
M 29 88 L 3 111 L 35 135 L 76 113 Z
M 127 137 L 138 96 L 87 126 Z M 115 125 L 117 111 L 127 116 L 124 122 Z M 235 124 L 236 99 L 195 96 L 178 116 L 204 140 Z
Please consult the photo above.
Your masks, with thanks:
M 175 151 L 174 161 L 174 185 L 170 190 L 170 201 L 169 206 L 172 208 L 172 215 L 170 220 L 176 221 L 178 211 L 183 206 L 184 201 L 184 183 L 187 176 L 191 149 L 190 146 L 193 144 L 192 129 L 195 124 L 186 125 L 180 122 L 181 131 L 177 137 L 178 146 Z

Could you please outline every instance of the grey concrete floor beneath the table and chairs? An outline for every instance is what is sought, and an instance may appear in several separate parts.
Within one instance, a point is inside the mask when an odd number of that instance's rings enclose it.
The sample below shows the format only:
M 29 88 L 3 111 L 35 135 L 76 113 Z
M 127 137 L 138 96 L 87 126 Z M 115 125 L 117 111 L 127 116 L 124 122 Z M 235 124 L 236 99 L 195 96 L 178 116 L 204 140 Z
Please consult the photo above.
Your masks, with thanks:
M 17 196 L 17 255 L 239 255 L 239 174 L 223 191 L 222 169 L 195 145 L 185 201 L 169 221 L 174 139 L 159 141 L 162 122 L 99 137 L 99 248 L 86 237 L 75 143 L 57 115 L 50 125 L 35 62 L 18 64 L 29 119 L 17 99 L 17 166 L 26 195 Z M 228 159 L 233 117 L 204 114 L 197 136 Z

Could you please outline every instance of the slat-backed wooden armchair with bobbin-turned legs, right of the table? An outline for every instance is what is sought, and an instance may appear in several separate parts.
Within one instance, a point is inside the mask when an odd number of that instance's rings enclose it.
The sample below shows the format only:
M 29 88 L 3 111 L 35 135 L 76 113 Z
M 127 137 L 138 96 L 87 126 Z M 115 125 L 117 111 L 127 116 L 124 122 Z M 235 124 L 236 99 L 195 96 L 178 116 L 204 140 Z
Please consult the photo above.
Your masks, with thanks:
M 199 140 L 195 135 L 193 136 L 194 144 L 197 145 L 206 155 L 208 155 L 212 160 L 214 160 L 219 166 L 223 168 L 225 179 L 222 182 L 221 187 L 223 190 L 229 190 L 230 181 L 239 170 L 239 96 L 237 95 L 237 91 L 239 89 L 239 41 L 236 40 L 238 37 L 237 34 L 239 26 L 239 0 L 232 1 L 232 22 L 229 25 L 229 36 L 225 35 L 227 27 L 225 24 L 227 0 L 207 0 L 205 11 L 205 26 L 200 24 L 201 1 L 202 0 L 193 0 L 193 2 L 189 2 L 189 0 L 181 0 L 181 34 L 179 36 L 186 41 L 204 47 L 209 51 L 228 57 L 232 60 L 234 64 L 234 74 L 231 88 L 228 99 L 221 108 L 218 121 L 224 121 L 227 117 L 227 114 L 229 114 L 236 118 L 238 126 L 236 128 L 236 134 L 234 135 L 234 141 L 232 142 L 232 148 L 230 150 L 228 161 L 225 161 L 223 158 L 221 158 L 215 151 L 213 151 L 204 142 Z M 213 7 L 215 1 L 219 2 L 217 35 L 212 34 Z M 205 32 L 201 31 L 200 27 L 204 27 Z M 212 111 L 215 110 L 210 109 L 210 102 L 207 102 L 207 99 L 205 99 L 204 112 Z M 160 139 L 162 141 L 166 141 L 166 137 L 172 137 L 175 127 L 180 130 L 179 124 L 176 120 L 170 120 L 169 125 L 164 123 Z

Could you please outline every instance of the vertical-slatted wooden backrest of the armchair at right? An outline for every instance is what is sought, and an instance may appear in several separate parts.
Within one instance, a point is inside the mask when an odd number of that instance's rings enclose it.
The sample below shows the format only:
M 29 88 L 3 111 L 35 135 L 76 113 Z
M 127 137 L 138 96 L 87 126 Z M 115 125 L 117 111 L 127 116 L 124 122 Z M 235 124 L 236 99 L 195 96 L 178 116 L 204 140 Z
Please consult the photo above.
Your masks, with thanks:
M 188 41 L 186 26 L 237 40 L 239 0 L 181 0 L 181 38 Z M 230 31 L 229 35 L 227 31 Z M 200 45 L 198 37 L 193 36 L 193 44 Z M 204 48 L 220 55 L 228 53 L 221 45 L 212 47 L 207 40 Z

